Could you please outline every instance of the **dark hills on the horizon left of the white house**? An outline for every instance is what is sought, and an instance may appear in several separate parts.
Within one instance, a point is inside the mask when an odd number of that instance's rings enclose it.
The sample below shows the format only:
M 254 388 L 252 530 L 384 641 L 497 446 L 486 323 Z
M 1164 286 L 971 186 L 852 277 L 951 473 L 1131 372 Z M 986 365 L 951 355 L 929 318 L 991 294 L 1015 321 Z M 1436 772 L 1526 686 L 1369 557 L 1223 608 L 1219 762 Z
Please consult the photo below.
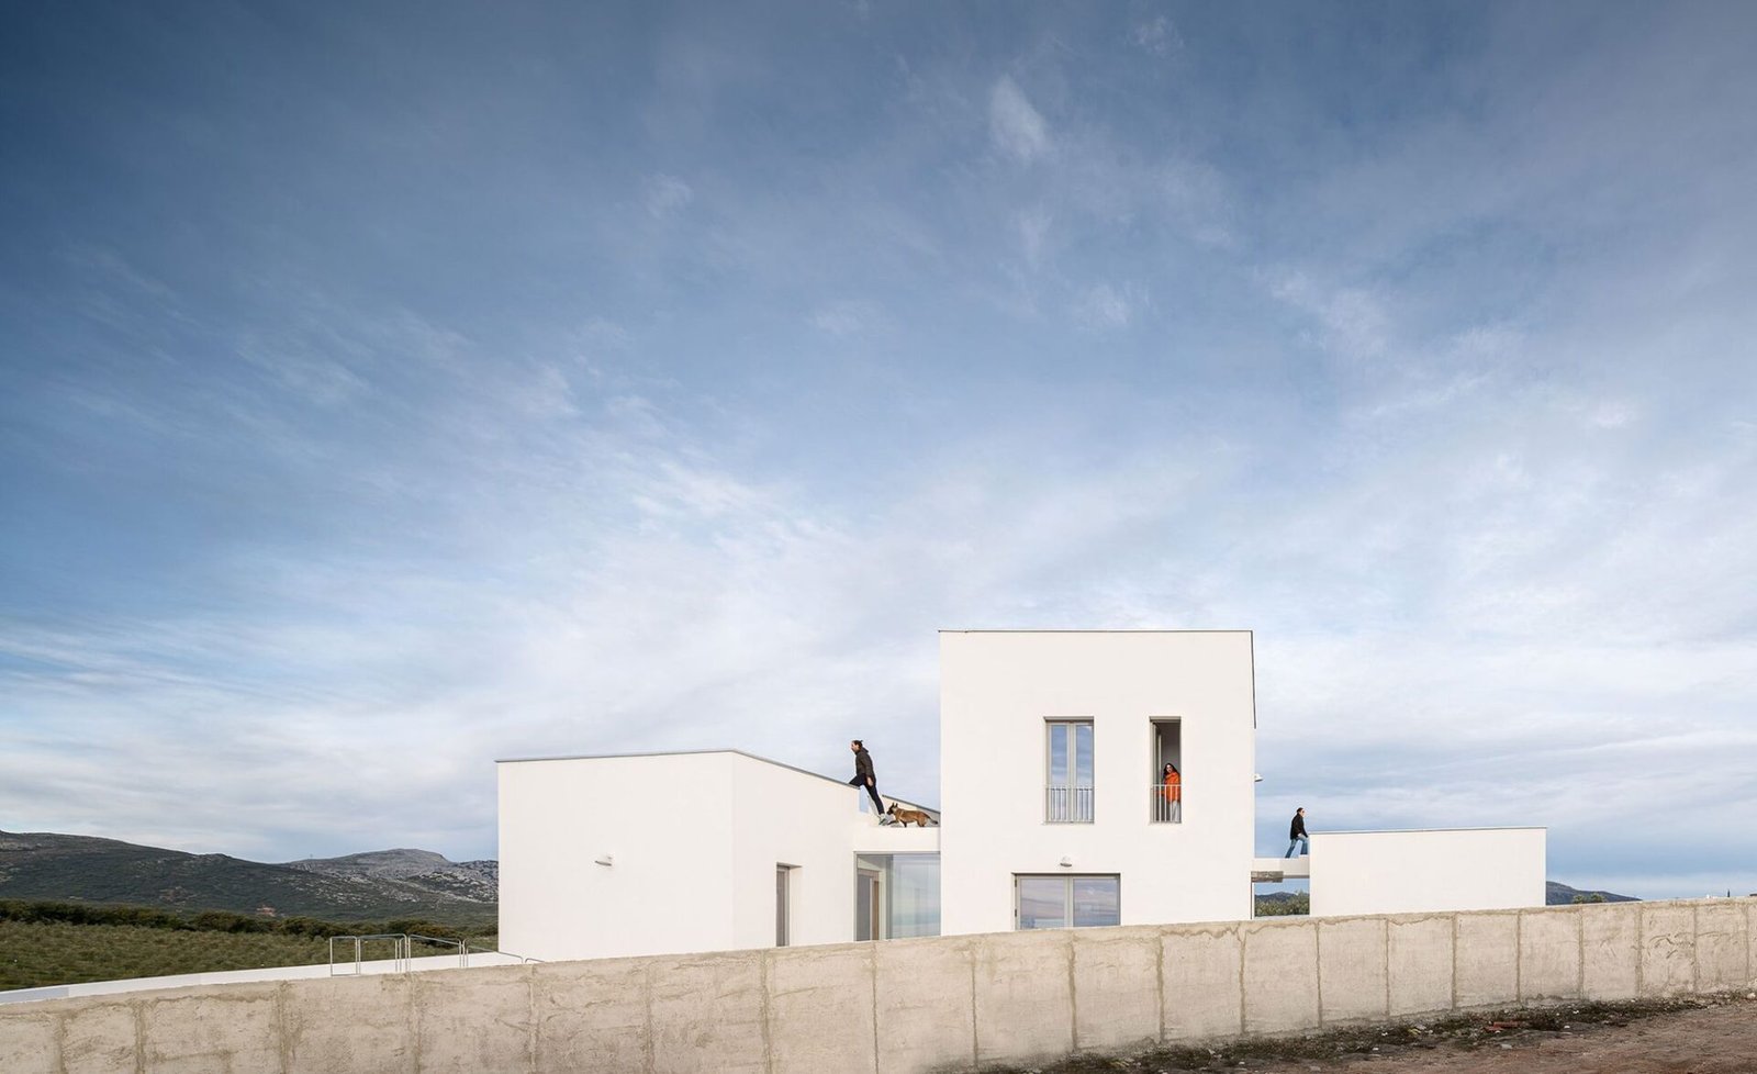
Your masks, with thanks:
M 0 898 L 232 911 L 274 918 L 492 925 L 494 861 L 374 851 L 281 865 L 90 835 L 0 831 Z

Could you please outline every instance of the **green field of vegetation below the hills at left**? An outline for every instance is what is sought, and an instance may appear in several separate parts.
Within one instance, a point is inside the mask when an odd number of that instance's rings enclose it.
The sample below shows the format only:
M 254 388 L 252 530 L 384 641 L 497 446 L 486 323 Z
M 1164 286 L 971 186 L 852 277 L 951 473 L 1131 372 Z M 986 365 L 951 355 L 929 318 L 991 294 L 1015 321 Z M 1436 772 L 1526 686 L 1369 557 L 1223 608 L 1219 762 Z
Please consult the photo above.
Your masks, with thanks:
M 213 970 L 253 970 L 329 962 L 329 937 L 418 933 L 492 947 L 490 930 L 464 930 L 420 919 L 318 921 L 248 918 L 225 911 L 174 914 L 153 907 L 0 900 L 0 990 L 162 977 Z M 445 954 L 441 947 L 425 951 Z M 388 958 L 388 942 L 365 958 Z M 416 949 L 416 954 L 423 951 Z M 350 944 L 337 958 L 353 956 Z

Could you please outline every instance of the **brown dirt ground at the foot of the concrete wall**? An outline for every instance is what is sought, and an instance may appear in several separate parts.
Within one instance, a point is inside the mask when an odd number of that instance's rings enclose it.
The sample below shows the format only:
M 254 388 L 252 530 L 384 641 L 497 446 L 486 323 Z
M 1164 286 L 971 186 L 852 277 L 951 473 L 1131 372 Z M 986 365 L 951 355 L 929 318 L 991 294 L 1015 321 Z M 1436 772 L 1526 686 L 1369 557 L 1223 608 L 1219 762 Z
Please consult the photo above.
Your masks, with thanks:
M 1562 1004 L 1161 1049 L 1082 1056 L 1040 1074 L 1757 1074 L 1757 993 Z

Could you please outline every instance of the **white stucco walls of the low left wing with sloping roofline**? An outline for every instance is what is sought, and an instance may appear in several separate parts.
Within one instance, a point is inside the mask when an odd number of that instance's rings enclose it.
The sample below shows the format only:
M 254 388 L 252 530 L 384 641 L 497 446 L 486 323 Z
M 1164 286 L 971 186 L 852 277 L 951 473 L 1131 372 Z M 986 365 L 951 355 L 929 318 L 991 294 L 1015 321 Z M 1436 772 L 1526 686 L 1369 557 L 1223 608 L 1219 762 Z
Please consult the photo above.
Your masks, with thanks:
M 501 935 L 532 958 L 852 939 L 854 787 L 722 751 L 499 763 Z M 613 865 L 597 865 L 610 856 Z

